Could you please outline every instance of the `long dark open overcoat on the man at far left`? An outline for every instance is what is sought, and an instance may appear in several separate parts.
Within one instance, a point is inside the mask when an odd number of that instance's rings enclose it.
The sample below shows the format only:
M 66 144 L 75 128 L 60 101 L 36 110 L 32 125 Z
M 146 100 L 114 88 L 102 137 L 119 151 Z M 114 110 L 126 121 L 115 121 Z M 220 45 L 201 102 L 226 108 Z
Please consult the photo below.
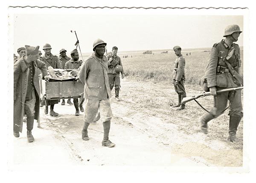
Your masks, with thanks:
M 37 60 L 34 62 L 35 67 L 35 75 L 34 75 L 34 86 L 35 86 L 35 119 L 39 118 L 39 110 L 40 110 L 40 88 L 39 88 L 39 78 L 38 74 L 40 74 L 41 70 L 42 77 L 48 76 L 46 64 L 41 60 Z M 24 116 L 24 104 L 26 99 L 26 91 L 27 91 L 27 82 L 29 79 L 30 70 L 25 63 L 24 56 L 17 60 L 14 64 L 14 108 L 13 108 L 13 130 L 22 132 L 23 126 L 23 116 Z

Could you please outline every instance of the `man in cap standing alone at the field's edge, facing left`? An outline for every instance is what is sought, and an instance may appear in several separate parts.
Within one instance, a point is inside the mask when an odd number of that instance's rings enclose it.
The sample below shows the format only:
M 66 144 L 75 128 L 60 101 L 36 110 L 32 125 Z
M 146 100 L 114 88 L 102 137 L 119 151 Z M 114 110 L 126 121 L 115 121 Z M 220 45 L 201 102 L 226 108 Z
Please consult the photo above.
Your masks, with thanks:
M 177 59 L 174 62 L 174 70 L 172 74 L 172 82 L 174 84 L 175 92 L 178 94 L 178 104 L 174 107 L 179 107 L 177 110 L 185 109 L 185 104 L 182 104 L 181 101 L 186 97 L 186 90 L 184 87 L 185 82 L 185 58 L 181 54 L 180 46 L 175 46 L 173 48 Z

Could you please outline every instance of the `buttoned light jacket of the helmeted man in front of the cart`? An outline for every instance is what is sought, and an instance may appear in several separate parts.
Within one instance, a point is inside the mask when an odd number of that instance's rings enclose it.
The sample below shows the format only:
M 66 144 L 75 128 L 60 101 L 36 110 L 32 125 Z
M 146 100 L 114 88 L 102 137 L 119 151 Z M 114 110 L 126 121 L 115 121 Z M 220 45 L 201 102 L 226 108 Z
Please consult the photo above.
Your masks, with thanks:
M 79 79 L 84 84 L 84 98 L 104 100 L 111 98 L 108 82 L 108 57 L 102 59 L 95 52 L 82 63 Z

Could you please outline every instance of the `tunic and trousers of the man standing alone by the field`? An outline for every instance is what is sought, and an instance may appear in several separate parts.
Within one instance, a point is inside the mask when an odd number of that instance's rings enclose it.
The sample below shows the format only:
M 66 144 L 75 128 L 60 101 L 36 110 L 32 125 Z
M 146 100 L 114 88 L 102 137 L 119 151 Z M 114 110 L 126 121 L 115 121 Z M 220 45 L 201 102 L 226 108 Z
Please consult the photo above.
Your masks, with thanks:
M 178 81 L 175 87 L 175 92 L 180 95 L 186 97 L 186 90 L 184 87 L 185 82 L 185 58 L 180 55 L 174 62 L 174 70 L 172 74 L 173 82 Z

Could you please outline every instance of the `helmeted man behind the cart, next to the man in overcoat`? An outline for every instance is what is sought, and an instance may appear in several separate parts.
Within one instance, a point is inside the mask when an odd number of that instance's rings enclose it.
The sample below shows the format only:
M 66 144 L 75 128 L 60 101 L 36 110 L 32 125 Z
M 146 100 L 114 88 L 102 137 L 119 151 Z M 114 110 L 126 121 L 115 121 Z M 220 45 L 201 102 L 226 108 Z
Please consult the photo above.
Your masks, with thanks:
M 51 50 L 52 47 L 48 43 L 43 46 L 44 54 L 41 57 L 41 61 L 46 64 L 46 67 L 52 66 L 54 69 L 62 69 L 61 62 L 59 61 L 58 57 L 52 55 Z M 45 101 L 45 109 L 44 114 L 48 114 L 48 106 L 50 106 L 50 115 L 57 116 L 58 113 L 54 112 L 54 104 L 58 104 L 58 100 L 48 100 Z

